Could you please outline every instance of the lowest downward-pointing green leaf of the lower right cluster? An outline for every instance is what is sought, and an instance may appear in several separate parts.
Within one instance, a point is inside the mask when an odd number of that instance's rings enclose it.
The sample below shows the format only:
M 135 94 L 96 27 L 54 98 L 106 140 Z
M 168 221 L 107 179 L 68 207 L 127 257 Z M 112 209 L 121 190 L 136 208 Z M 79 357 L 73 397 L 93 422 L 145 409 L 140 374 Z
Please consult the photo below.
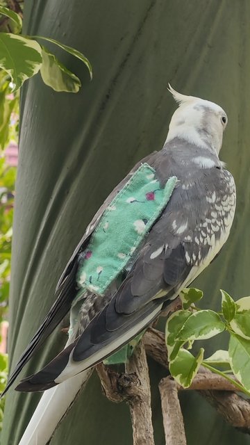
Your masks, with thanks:
M 169 371 L 183 388 L 190 387 L 192 380 L 199 370 L 203 360 L 204 350 L 201 348 L 197 357 L 194 357 L 188 350 L 181 348 L 175 359 L 169 363 Z

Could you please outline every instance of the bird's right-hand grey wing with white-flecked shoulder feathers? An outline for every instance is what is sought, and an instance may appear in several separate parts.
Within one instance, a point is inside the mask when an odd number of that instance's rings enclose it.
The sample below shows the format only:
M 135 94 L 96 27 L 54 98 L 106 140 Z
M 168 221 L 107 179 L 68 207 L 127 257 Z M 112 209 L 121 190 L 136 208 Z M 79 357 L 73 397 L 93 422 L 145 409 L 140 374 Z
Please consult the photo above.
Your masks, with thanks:
M 204 174 L 205 173 L 205 174 Z M 88 359 L 188 286 L 219 253 L 235 213 L 235 183 L 226 170 L 197 171 L 180 181 L 131 272 L 78 339 L 73 358 Z

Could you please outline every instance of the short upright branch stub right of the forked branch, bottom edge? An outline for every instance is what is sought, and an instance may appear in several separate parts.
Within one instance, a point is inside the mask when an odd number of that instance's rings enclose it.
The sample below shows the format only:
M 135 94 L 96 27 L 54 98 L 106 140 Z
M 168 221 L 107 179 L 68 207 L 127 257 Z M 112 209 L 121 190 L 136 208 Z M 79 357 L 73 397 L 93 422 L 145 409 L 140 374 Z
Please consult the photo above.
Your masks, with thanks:
M 160 380 L 160 400 L 166 445 L 186 445 L 181 405 L 176 382 L 171 378 Z

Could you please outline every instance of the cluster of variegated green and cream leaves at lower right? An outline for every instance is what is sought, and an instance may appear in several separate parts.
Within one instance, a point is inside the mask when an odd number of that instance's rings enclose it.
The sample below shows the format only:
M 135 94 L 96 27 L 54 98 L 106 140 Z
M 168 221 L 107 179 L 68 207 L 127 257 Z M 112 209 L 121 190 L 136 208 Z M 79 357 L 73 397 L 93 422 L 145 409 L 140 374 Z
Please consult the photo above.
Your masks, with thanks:
M 222 293 L 222 312 L 201 310 L 192 305 L 201 296 L 199 289 L 185 289 L 181 293 L 183 305 L 188 307 L 174 312 L 166 324 L 166 345 L 169 371 L 184 388 L 192 384 L 202 364 L 231 381 L 240 391 L 250 396 L 250 297 L 234 301 Z M 189 350 L 190 341 L 210 339 L 226 330 L 230 335 L 228 350 L 217 350 L 203 359 L 201 349 L 194 357 Z M 218 368 L 226 369 L 226 372 Z M 235 375 L 234 382 L 228 370 Z

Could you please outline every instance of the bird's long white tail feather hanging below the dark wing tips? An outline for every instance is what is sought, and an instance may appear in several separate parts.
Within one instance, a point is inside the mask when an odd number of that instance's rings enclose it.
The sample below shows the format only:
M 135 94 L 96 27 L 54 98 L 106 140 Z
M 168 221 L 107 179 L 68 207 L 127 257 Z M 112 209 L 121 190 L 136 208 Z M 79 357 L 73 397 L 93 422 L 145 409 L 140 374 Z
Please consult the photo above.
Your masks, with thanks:
M 45 391 L 19 445 L 47 445 L 91 373 L 84 371 Z

